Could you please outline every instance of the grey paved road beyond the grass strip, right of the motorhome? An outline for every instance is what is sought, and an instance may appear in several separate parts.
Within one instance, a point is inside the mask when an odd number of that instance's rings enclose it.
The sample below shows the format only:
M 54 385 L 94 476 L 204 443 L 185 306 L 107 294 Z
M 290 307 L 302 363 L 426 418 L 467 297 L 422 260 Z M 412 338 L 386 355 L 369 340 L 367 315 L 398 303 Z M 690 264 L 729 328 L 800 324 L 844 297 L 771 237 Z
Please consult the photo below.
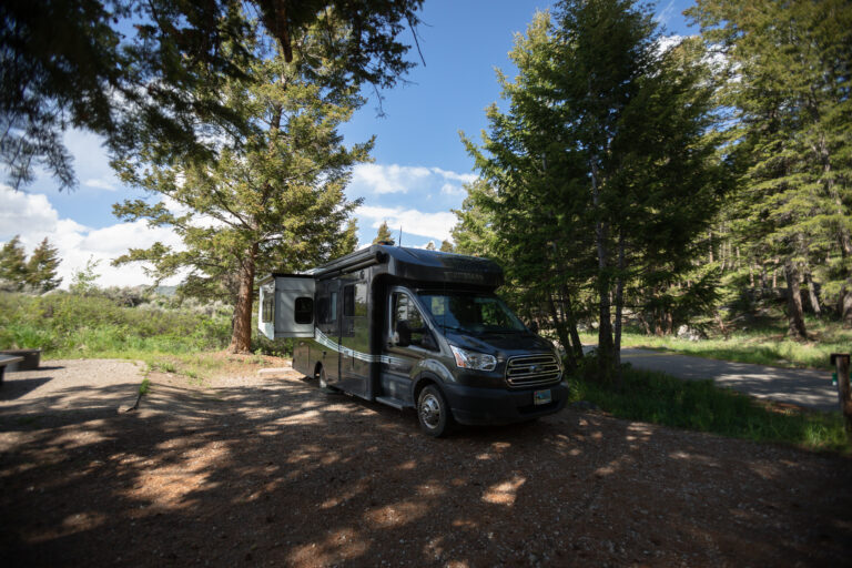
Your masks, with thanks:
M 764 367 L 748 363 L 706 359 L 650 349 L 621 349 L 621 361 L 637 368 L 662 371 L 679 378 L 712 378 L 758 398 L 839 410 L 838 388 L 831 385 L 830 371 Z

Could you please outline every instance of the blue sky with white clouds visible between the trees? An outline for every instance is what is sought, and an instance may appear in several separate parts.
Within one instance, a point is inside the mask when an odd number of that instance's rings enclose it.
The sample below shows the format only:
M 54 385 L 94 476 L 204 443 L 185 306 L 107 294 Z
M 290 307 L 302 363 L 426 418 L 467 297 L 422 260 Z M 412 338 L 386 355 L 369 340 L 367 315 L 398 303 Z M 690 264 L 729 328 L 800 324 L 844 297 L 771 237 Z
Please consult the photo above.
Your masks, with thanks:
M 383 110 L 376 114 L 371 99 L 342 130 L 347 143 L 376 135 L 375 162 L 358 166 L 347 190 L 363 199 L 357 210 L 359 241 L 369 243 L 382 221 L 395 236 L 403 229 L 403 244 L 440 244 L 455 223 L 452 209 L 464 199 L 462 185 L 474 179 L 473 160 L 458 132 L 478 140 L 486 128 L 485 108 L 499 101 L 495 69 L 513 77 L 507 59 L 514 34 L 523 32 L 536 10 L 552 4 L 545 0 L 426 0 L 420 49 L 426 64 L 407 75 L 407 84 L 385 91 Z M 667 34 L 696 33 L 681 12 L 687 0 L 662 0 L 657 19 Z M 404 37 L 409 39 L 410 36 Z M 416 58 L 416 51 L 412 51 Z M 113 268 L 111 258 L 129 246 L 154 241 L 179 244 L 170 231 L 151 230 L 144 222 L 121 223 L 112 204 L 144 196 L 124 187 L 112 174 L 98 136 L 79 131 L 65 134 L 74 155 L 79 186 L 59 192 L 49 176 L 39 178 L 26 192 L 0 185 L 0 242 L 16 234 L 30 252 L 44 236 L 60 248 L 63 287 L 71 274 L 89 258 L 100 261 L 101 285 L 135 285 L 151 282 L 140 266 Z

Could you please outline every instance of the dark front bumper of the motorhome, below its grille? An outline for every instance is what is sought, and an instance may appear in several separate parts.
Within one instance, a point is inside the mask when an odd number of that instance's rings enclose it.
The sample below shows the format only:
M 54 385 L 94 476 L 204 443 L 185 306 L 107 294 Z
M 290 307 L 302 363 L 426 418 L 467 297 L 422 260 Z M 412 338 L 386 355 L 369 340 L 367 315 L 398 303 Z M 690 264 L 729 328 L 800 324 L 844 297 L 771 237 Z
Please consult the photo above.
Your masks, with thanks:
M 511 424 L 558 413 L 568 400 L 565 382 L 537 388 L 481 388 L 457 384 L 444 384 L 444 394 L 453 417 L 460 424 Z M 532 404 L 535 390 L 550 389 L 551 402 Z

